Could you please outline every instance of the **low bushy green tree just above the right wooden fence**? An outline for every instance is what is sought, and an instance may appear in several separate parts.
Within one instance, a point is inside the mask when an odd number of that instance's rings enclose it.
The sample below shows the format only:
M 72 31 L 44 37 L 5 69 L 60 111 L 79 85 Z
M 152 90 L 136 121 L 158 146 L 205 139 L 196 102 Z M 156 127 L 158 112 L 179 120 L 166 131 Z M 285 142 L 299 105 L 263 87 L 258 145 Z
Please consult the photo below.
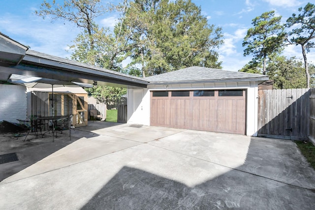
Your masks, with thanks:
M 303 63 L 295 57 L 286 59 L 284 56 L 275 56 L 268 62 L 266 68 L 270 80 L 274 81 L 276 89 L 306 88 Z

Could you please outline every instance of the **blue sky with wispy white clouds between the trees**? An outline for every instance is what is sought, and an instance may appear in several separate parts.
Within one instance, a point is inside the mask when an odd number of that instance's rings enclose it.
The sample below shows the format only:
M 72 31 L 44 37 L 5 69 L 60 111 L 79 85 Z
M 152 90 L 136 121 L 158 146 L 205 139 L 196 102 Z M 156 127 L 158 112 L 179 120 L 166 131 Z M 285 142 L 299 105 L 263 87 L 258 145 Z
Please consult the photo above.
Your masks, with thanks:
M 71 51 L 68 51 L 68 45 L 71 45 L 79 29 L 68 22 L 51 23 L 48 17 L 42 19 L 34 15 L 41 2 L 43 0 L 1 0 L 0 32 L 30 46 L 32 50 L 69 58 Z M 109 1 L 102 2 L 106 4 Z M 118 0 L 111 2 L 115 3 Z M 218 50 L 222 67 L 237 71 L 252 60 L 250 56 L 243 56 L 242 42 L 247 30 L 252 27 L 253 18 L 263 12 L 275 10 L 277 15 L 283 16 L 285 22 L 292 13 L 298 13 L 298 8 L 304 7 L 309 0 L 192 0 L 192 2 L 201 6 L 202 14 L 207 17 L 209 24 L 222 28 L 224 44 Z M 117 18 L 117 14 L 107 13 L 98 19 L 97 24 L 111 28 Z M 301 47 L 291 45 L 285 48 L 284 56 L 302 59 Z M 315 64 L 315 49 L 307 56 L 309 62 Z

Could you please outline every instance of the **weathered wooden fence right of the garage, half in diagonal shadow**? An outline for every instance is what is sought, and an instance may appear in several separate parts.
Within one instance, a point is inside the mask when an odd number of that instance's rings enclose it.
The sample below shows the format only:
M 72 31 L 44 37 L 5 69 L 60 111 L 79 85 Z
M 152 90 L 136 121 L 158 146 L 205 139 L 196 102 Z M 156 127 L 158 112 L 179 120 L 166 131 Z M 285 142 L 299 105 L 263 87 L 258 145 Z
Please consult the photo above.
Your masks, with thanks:
M 258 90 L 258 136 L 307 139 L 310 92 L 310 89 Z

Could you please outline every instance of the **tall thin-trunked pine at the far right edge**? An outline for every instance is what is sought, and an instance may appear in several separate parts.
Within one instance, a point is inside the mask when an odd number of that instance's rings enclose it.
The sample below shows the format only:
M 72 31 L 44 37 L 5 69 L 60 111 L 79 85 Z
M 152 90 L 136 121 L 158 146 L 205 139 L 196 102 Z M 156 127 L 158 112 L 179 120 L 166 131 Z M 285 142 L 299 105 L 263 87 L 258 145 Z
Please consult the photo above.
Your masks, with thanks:
M 293 13 L 292 17 L 286 20 L 286 27 L 293 27 L 288 33 L 292 38 L 290 40 L 287 38 L 287 40 L 290 44 L 301 45 L 307 88 L 309 88 L 310 73 L 306 53 L 310 52 L 312 47 L 315 47 L 315 43 L 312 41 L 315 38 L 315 5 L 308 3 L 304 8 L 300 7 L 298 10 L 301 12 L 298 16 Z

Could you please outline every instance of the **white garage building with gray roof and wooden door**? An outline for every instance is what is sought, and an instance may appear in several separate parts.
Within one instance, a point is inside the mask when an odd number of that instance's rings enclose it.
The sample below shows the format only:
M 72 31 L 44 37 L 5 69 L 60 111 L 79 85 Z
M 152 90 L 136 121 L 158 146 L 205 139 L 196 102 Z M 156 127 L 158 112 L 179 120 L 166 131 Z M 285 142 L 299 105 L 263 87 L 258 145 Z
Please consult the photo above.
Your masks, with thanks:
M 268 76 L 188 67 L 128 90 L 128 123 L 257 135 L 258 84 Z

